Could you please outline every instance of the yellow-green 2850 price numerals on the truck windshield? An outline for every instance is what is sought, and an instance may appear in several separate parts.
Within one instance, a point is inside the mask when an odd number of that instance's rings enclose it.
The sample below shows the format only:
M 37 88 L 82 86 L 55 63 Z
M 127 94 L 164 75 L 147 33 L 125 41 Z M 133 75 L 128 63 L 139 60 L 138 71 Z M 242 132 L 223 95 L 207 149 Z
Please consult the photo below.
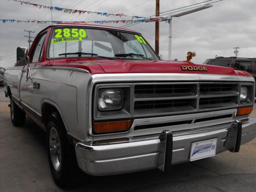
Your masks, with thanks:
M 64 37 L 81 37 L 86 38 L 87 33 L 84 29 L 78 28 L 64 28 L 64 29 L 56 29 L 54 30 L 55 36 L 54 38 L 64 38 Z

